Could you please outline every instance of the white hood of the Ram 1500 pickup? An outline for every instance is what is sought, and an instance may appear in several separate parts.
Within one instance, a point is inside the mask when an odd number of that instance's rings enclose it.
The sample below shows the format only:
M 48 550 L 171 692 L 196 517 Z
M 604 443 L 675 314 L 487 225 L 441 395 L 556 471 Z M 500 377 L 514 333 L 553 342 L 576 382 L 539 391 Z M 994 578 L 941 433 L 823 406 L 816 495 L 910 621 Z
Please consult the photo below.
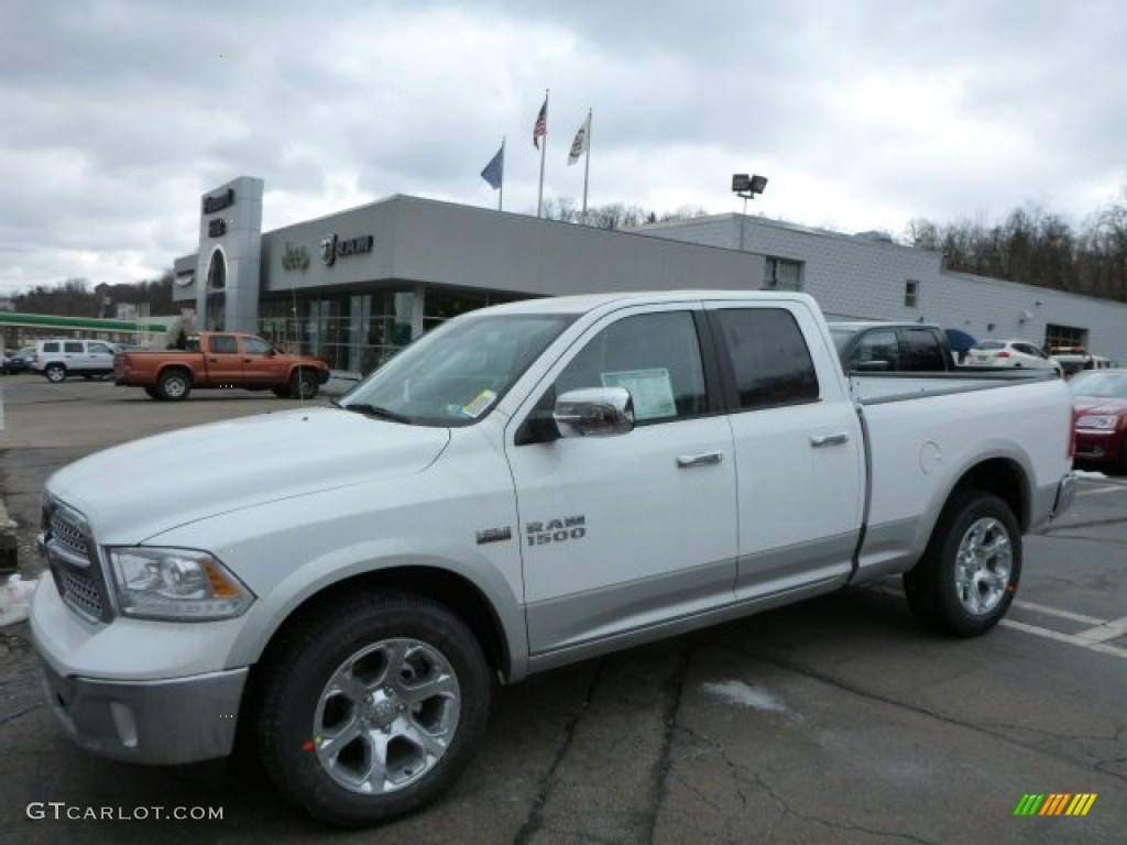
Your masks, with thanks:
M 82 512 L 100 543 L 139 543 L 216 514 L 421 472 L 446 428 L 339 408 L 242 417 L 145 437 L 59 470 L 47 490 Z

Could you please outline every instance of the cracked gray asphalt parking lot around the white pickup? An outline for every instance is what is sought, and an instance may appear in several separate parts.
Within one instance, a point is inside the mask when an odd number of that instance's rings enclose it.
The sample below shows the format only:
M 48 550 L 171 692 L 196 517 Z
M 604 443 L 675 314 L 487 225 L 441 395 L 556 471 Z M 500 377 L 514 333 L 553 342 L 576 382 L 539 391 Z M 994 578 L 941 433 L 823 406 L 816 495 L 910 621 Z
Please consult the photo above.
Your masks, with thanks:
M 156 403 L 34 376 L 0 386 L 0 483 L 28 575 L 55 468 L 295 404 L 237 391 Z M 0 843 L 1121 843 L 1125 550 L 1127 479 L 1085 478 L 1073 510 L 1027 537 L 1014 607 L 986 637 L 928 633 L 888 581 L 533 676 L 498 692 L 451 793 L 370 831 L 308 821 L 246 759 L 163 770 L 80 751 L 39 700 L 26 623 L 10 625 Z M 1095 798 L 1084 816 L 1014 815 L 1041 794 Z

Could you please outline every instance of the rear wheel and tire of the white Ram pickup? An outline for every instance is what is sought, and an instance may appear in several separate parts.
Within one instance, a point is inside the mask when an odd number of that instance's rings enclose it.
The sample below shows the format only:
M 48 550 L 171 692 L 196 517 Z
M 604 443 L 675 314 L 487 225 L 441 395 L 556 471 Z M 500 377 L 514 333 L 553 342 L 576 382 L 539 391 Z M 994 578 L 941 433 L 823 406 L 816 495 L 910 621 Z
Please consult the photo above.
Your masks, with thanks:
M 1021 530 L 997 496 L 957 490 L 923 558 L 904 575 L 916 617 L 955 637 L 976 637 L 1005 616 L 1021 577 Z

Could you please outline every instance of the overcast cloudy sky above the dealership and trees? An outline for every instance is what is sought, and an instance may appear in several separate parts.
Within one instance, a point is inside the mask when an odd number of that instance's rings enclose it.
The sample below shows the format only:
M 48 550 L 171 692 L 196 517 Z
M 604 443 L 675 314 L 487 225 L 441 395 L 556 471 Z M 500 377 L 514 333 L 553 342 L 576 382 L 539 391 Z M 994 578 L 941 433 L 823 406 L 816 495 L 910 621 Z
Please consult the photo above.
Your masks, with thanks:
M 1121 0 L 3 0 L 0 294 L 194 252 L 201 194 L 264 229 L 392 194 L 535 213 L 594 110 L 589 203 L 900 234 L 1127 184 Z

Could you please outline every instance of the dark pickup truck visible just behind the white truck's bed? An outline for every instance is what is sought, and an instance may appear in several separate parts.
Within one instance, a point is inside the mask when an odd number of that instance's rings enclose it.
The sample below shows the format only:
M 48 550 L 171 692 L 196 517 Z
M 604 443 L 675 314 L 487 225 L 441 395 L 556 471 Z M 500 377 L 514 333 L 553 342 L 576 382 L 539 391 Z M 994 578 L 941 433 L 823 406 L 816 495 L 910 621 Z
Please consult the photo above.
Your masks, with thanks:
M 946 373 L 958 370 L 947 335 L 919 322 L 832 322 L 846 373 Z

